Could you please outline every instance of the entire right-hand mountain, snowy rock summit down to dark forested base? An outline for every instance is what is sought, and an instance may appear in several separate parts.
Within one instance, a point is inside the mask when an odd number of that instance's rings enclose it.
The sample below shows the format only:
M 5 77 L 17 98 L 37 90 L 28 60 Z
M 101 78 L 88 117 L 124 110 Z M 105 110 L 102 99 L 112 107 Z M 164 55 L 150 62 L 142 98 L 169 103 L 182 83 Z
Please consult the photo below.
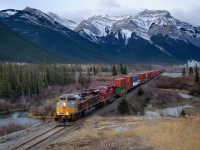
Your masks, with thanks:
M 82 21 L 75 31 L 105 49 L 128 53 L 137 62 L 199 60 L 199 27 L 181 22 L 167 11 L 145 10 L 120 17 L 93 16 Z

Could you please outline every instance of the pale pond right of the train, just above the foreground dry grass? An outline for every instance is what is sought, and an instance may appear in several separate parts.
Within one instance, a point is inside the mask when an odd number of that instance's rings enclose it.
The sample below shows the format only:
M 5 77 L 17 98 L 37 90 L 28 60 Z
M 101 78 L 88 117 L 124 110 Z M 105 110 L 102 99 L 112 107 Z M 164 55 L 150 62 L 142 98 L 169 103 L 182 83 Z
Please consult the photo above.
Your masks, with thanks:
M 181 111 L 185 108 L 192 108 L 191 105 L 184 105 L 178 107 L 168 107 L 163 109 L 158 109 L 155 111 L 145 111 L 146 116 L 174 116 L 177 117 L 180 115 Z

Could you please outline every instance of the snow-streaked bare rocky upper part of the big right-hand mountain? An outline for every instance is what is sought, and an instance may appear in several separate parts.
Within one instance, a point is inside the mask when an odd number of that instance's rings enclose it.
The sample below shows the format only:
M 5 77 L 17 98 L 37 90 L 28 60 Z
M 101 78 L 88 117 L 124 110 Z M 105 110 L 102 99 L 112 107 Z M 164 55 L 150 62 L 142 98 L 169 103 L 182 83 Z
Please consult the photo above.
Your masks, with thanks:
M 165 10 L 144 10 L 126 16 L 97 15 L 81 22 L 75 31 L 96 43 L 101 37 L 110 34 L 119 39 L 120 32 L 127 44 L 134 32 L 150 43 L 152 36 L 162 34 L 200 46 L 199 28 L 175 19 Z

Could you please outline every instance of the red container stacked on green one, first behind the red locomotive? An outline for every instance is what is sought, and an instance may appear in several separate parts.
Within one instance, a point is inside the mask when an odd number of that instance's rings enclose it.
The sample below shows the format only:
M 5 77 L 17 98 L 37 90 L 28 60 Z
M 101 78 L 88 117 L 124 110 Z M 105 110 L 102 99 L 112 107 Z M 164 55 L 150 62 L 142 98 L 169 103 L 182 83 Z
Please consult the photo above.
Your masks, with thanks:
M 116 85 L 116 93 L 122 93 L 126 91 L 126 80 L 125 78 L 117 78 L 113 80 L 114 85 Z

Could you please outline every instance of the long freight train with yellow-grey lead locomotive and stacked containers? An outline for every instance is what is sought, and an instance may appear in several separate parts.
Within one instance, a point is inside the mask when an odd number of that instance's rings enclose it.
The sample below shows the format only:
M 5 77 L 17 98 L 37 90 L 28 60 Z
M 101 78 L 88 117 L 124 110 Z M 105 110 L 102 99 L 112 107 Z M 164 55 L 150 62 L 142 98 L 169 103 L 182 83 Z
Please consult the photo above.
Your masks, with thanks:
M 63 94 L 56 104 L 55 121 L 63 124 L 74 122 L 84 116 L 88 110 L 102 107 L 114 101 L 117 97 L 123 96 L 161 72 L 161 69 L 146 71 L 136 76 L 116 78 L 112 85 L 87 89 L 81 94 Z

